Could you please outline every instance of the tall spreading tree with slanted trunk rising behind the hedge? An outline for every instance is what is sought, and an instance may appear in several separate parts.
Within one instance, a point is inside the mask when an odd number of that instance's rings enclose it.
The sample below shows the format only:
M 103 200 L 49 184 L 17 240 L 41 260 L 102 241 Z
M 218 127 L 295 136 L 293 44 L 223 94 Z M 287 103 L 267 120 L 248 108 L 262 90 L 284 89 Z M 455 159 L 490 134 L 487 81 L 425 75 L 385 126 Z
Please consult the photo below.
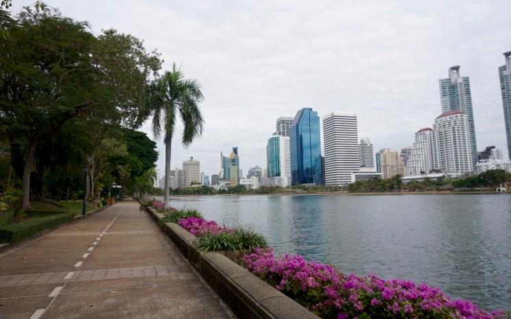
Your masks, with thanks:
M 161 61 L 133 36 L 113 29 L 94 36 L 87 23 L 41 2 L 11 20 L 2 23 L 8 36 L 0 43 L 0 123 L 26 209 L 41 143 L 71 119 L 139 123 L 139 107 Z

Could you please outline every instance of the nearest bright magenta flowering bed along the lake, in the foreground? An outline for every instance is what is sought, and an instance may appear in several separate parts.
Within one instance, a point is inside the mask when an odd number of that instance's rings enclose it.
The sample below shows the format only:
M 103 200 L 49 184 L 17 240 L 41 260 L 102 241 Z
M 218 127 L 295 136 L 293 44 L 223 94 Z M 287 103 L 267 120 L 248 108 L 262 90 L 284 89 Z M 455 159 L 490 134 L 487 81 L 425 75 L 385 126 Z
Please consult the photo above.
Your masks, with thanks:
M 375 275 L 345 275 L 331 265 L 300 255 L 275 257 L 261 250 L 242 257 L 243 265 L 321 318 L 503 319 L 466 300 L 452 300 L 440 289 Z

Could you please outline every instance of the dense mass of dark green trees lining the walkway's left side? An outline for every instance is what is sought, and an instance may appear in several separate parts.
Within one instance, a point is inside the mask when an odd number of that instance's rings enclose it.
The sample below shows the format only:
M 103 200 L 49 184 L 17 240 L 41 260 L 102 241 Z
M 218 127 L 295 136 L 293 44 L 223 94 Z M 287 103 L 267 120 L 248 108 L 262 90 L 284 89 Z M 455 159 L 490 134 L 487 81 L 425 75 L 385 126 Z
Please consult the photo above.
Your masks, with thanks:
M 29 209 L 81 196 L 97 206 L 114 183 L 152 189 L 156 143 L 136 128 L 154 106 L 159 54 L 39 1 L 0 9 L 0 29 L 0 192 L 19 188 Z

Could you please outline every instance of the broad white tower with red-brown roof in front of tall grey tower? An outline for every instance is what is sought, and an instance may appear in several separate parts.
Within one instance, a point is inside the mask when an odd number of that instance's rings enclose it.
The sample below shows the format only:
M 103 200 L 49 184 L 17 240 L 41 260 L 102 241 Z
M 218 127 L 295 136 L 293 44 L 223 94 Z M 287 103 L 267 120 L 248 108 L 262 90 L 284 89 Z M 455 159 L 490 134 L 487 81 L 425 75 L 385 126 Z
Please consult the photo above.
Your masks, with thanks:
M 433 124 L 433 167 L 446 174 L 470 173 L 472 165 L 468 117 L 460 110 L 443 113 Z

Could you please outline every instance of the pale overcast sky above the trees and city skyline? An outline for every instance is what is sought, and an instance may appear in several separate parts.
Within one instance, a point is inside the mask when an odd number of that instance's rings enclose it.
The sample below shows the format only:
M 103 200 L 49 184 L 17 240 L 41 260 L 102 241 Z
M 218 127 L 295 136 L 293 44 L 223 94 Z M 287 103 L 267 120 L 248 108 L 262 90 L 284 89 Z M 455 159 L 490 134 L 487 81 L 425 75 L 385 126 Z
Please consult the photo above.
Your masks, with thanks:
M 178 125 L 171 167 L 189 156 L 218 174 L 239 147 L 243 174 L 266 166 L 278 117 L 311 107 L 357 113 L 375 151 L 412 145 L 440 115 L 438 79 L 470 76 L 477 149 L 506 148 L 497 68 L 511 51 L 511 1 L 47 0 L 64 16 L 145 40 L 202 84 L 204 134 L 188 148 Z M 13 0 L 11 12 L 33 1 Z M 150 122 L 141 128 L 151 137 Z M 157 166 L 164 172 L 165 145 Z

